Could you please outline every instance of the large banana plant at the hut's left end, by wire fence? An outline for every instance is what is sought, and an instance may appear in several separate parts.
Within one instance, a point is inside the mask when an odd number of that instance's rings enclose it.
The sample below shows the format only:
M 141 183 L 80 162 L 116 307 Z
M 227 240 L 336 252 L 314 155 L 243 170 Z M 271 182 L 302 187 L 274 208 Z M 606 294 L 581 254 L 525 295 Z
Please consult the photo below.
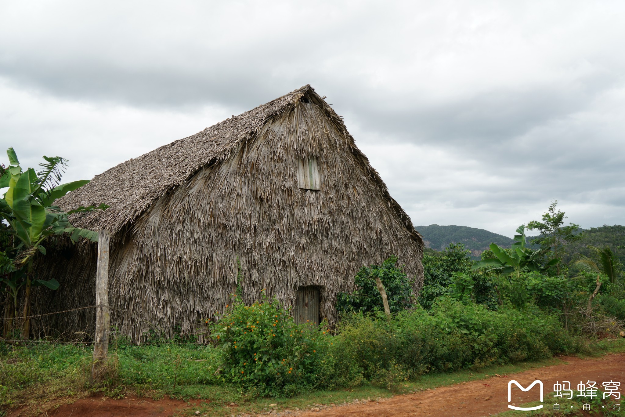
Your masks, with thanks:
M 54 234 L 69 234 L 73 242 L 80 238 L 98 241 L 98 233 L 75 228 L 69 223 L 69 214 L 79 211 L 89 211 L 95 206 L 79 207 L 76 210 L 63 212 L 54 201 L 70 191 L 88 183 L 88 180 L 73 181 L 59 184 L 67 160 L 59 156 L 44 156 L 44 163 L 39 164 L 42 169 L 36 172 L 29 168 L 22 171 L 19 160 L 13 148 L 7 150 L 9 167 L 0 170 L 0 188 L 7 188 L 0 199 L 0 218 L 9 226 L 9 233 L 13 236 L 13 246 L 8 251 L 14 256 L 15 271 L 25 270 L 25 279 L 19 279 L 17 274 L 11 278 L 1 280 L 6 287 L 5 291 L 12 294 L 14 305 L 17 306 L 17 292 L 24 286 L 24 324 L 22 337 L 29 334 L 29 316 L 31 286 L 43 285 L 50 289 L 58 289 L 56 279 L 47 281 L 34 279 L 32 276 L 32 262 L 37 253 L 46 254 L 44 242 Z M 106 209 L 108 206 L 101 204 L 97 208 Z

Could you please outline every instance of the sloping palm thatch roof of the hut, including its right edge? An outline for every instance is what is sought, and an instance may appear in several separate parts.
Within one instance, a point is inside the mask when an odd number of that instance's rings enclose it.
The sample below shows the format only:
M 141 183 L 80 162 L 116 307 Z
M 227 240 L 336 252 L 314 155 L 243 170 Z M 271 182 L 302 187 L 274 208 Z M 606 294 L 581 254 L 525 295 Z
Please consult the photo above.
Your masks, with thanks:
M 356 147 L 354 138 L 347 132 L 342 118 L 314 92 L 309 84 L 238 116 L 232 116 L 192 136 L 118 164 L 96 175 L 91 183 L 59 199 L 57 204 L 62 209 L 69 210 L 78 206 L 106 203 L 110 206 L 106 211 L 74 214 L 71 221 L 81 228 L 96 231 L 107 229 L 115 233 L 132 223 L 156 199 L 185 183 L 202 167 L 227 159 L 241 142 L 254 137 L 267 121 L 291 109 L 304 95 L 309 96 L 320 106 L 342 134 L 350 139 L 352 153 L 366 161 L 369 174 L 379 184 L 382 193 L 388 199 L 389 207 L 396 212 L 406 229 L 422 246 L 422 238 L 412 227 L 411 219 L 391 197 L 377 171 L 371 168 L 366 156 Z

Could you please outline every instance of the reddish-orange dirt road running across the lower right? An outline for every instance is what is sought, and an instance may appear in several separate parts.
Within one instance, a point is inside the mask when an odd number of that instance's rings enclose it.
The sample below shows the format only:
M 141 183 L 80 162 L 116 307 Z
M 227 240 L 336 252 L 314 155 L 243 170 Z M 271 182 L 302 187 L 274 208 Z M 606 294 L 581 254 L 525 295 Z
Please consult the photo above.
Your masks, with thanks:
M 523 403 L 539 399 L 536 387 L 527 392 L 516 388 L 512 389 L 512 401 L 508 403 L 507 383 L 511 379 L 515 379 L 524 387 L 527 387 L 535 379 L 541 380 L 544 384 L 545 398 L 553 391 L 553 385 L 556 381 L 571 381 L 572 389 L 576 389 L 579 381 L 584 381 L 584 383 L 597 381 L 599 387 L 603 381 L 619 381 L 621 382 L 620 392 L 625 394 L 625 387 L 623 387 L 625 384 L 625 354 L 608 354 L 598 359 L 579 359 L 568 356 L 561 359 L 567 363 L 439 387 L 432 391 L 394 396 L 380 403 L 368 402 L 334 407 L 318 412 L 307 411 L 299 415 L 302 417 L 477 417 L 507 411 L 507 405 L 511 403 L 522 406 Z M 577 394 L 576 391 L 574 392 Z

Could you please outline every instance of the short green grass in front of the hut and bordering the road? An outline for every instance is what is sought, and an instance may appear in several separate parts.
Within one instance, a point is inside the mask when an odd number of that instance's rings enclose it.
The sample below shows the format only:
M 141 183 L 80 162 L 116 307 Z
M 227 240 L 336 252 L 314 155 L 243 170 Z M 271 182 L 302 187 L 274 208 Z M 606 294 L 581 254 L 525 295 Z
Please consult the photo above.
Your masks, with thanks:
M 596 341 L 586 356 L 625 351 L 625 339 Z M 414 381 L 391 387 L 371 384 L 353 389 L 313 391 L 294 398 L 257 398 L 219 381 L 216 349 L 209 346 L 164 343 L 150 346 L 114 346 L 112 368 L 116 377 L 104 386 L 89 384 L 91 349 L 81 345 L 28 343 L 14 347 L 0 344 L 0 416 L 9 409 L 25 407 L 25 414 L 40 414 L 55 404 L 67 403 L 94 393 L 113 398 L 164 396 L 199 400 L 185 409 L 207 416 L 232 413 L 260 413 L 269 409 L 284 411 L 351 403 L 355 399 L 383 399 L 394 394 L 414 393 L 464 381 L 489 378 L 496 373 L 511 374 L 561 363 L 557 357 L 455 373 L 424 374 Z M 175 386 L 174 386 L 175 381 Z M 221 383 L 220 383 L 221 382 Z M 204 401 L 202 401 L 204 400 Z M 234 403 L 236 407 L 229 404 Z M 271 406 L 271 404 L 276 404 Z

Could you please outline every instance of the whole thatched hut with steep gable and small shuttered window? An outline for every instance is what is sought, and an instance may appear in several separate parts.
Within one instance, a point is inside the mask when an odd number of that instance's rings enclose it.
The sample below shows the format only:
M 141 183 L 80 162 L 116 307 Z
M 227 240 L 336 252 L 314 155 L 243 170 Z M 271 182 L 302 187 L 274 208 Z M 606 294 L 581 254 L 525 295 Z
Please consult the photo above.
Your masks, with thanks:
M 71 221 L 111 234 L 111 324 L 135 340 L 150 329 L 194 333 L 237 284 L 246 303 L 262 289 L 286 305 L 316 290 L 318 314 L 333 322 L 336 294 L 353 289 L 362 265 L 391 255 L 415 294 L 422 286 L 421 236 L 310 86 L 121 163 L 58 201 L 99 203 L 111 207 Z M 37 310 L 93 306 L 96 245 L 51 252 L 40 271 L 61 288 L 42 294 Z M 47 331 L 93 331 L 91 308 L 46 318 Z

